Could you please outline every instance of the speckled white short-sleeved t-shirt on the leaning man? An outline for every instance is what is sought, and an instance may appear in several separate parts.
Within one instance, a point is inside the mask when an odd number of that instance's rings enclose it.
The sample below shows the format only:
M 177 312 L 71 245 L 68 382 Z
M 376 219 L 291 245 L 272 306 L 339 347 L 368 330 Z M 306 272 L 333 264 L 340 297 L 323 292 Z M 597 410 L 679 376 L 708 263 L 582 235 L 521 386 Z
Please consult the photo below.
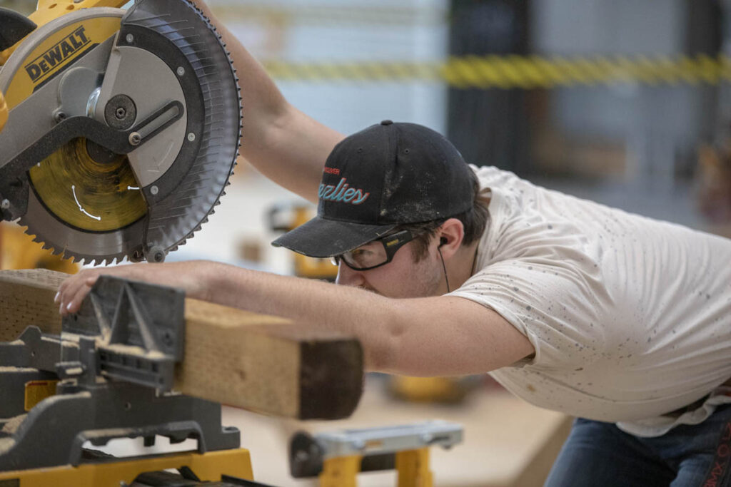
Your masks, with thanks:
M 731 377 L 731 240 L 473 169 L 491 223 L 474 275 L 451 294 L 495 310 L 536 350 L 491 372 L 499 383 L 640 436 L 731 402 L 719 387 Z

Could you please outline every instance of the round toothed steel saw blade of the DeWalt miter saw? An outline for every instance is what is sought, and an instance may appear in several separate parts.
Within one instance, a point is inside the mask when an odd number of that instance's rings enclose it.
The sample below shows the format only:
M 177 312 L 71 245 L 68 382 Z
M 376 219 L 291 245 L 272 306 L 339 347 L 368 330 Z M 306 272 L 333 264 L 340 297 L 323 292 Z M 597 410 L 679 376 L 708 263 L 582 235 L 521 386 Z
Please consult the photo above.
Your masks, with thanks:
M 75 18 L 64 25 L 82 23 L 84 13 L 94 10 L 65 15 Z M 181 87 L 187 140 L 164 175 L 139 189 L 128 158 L 98 161 L 89 156 L 85 139 L 70 142 L 29 171 L 28 210 L 19 223 L 54 253 L 86 264 L 139 260 L 150 249 L 159 256 L 183 245 L 213 213 L 238 156 L 238 78 L 211 23 L 186 0 L 142 0 L 124 16 L 119 39 L 130 38 L 125 29 L 135 32 L 135 45 L 138 38 L 162 43 L 146 47 L 162 57 L 166 69 L 184 66 L 178 71 L 186 73 Z M 139 83 L 154 83 L 144 70 L 137 77 Z M 190 83 L 195 90 L 188 89 Z

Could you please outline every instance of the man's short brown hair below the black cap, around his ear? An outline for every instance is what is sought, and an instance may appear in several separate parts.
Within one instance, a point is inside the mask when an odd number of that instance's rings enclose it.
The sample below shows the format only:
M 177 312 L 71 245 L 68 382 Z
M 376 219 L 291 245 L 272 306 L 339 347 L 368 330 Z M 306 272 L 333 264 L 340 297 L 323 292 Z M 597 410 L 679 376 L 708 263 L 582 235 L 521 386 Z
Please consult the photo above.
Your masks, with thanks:
M 488 205 L 480 198 L 480 181 L 477 180 L 477 175 L 470 171 L 470 177 L 472 180 L 472 207 L 469 210 L 440 220 L 426 221 L 423 223 L 404 223 L 397 227 L 398 231 L 409 230 L 415 236 L 414 245 L 412 246 L 414 262 L 418 262 L 426 256 L 429 242 L 434 234 L 436 234 L 436 230 L 450 218 L 457 218 L 462 222 L 464 227 L 462 245 L 470 245 L 475 240 L 480 239 L 482 234 L 485 233 L 490 219 L 490 212 L 488 211 Z

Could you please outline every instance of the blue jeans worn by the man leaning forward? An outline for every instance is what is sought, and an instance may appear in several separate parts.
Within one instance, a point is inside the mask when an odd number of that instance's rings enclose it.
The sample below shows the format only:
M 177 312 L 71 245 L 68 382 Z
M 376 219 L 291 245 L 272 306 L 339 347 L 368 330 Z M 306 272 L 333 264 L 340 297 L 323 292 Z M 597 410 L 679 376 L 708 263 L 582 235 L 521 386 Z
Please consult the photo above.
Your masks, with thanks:
M 731 404 L 661 437 L 577 419 L 545 487 L 731 486 Z

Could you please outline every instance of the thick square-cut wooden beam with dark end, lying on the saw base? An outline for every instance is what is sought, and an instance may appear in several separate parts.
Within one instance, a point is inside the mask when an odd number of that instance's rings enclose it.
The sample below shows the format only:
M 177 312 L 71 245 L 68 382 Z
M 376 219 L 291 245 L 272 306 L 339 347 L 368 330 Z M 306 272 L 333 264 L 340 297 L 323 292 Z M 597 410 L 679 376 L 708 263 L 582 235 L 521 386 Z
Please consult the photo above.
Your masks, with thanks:
M 65 277 L 0 271 L 0 341 L 15 340 L 29 325 L 58 333 L 53 297 Z M 289 418 L 345 418 L 355 410 L 363 350 L 354 338 L 195 299 L 185 307 L 185 358 L 175 390 Z

